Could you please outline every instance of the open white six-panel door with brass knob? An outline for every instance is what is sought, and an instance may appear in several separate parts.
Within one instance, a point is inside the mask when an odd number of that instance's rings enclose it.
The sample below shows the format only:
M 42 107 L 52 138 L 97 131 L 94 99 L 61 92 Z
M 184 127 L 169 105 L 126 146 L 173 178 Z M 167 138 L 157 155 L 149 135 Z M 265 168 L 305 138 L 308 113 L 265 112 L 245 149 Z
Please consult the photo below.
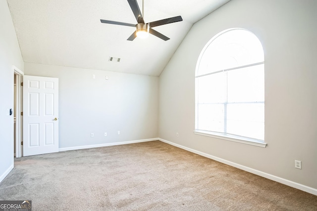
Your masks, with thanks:
M 23 156 L 58 152 L 58 79 L 23 76 Z

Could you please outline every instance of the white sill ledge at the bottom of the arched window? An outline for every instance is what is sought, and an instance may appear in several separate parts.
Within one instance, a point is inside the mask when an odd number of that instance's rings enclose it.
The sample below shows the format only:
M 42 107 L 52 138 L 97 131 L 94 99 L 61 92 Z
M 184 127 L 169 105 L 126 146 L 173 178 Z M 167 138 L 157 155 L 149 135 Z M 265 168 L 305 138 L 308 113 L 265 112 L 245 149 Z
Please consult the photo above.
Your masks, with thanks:
M 239 137 L 234 135 L 219 134 L 219 133 L 214 133 L 214 132 L 205 131 L 205 130 L 195 130 L 194 133 L 197 135 L 205 135 L 205 136 L 209 136 L 213 138 L 220 138 L 227 141 L 234 141 L 234 142 L 249 144 L 249 145 L 258 146 L 258 147 L 266 147 L 267 145 L 263 141 L 253 139 L 253 138 L 245 138 L 245 137 Z

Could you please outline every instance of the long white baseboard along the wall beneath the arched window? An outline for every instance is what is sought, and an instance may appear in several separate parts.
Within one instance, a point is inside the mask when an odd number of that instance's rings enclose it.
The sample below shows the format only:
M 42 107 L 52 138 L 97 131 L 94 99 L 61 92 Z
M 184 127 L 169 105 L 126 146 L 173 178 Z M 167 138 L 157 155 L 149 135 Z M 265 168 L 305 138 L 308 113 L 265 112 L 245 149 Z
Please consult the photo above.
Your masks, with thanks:
M 218 161 L 220 163 L 235 167 L 237 169 L 242 169 L 242 170 L 248 171 L 250 173 L 254 173 L 254 174 L 262 176 L 264 178 L 273 180 L 275 182 L 282 183 L 284 185 L 288 185 L 290 187 L 293 187 L 293 188 L 296 188 L 296 189 L 299 189 L 299 190 L 302 190 L 302 191 L 305 191 L 305 192 L 308 192 L 308 193 L 311 193 L 311 194 L 314 194 L 314 195 L 317 196 L 317 189 L 315 189 L 315 188 L 312 188 L 312 187 L 309 187 L 309 186 L 306 186 L 306 185 L 303 185 L 303 184 L 300 184 L 300 183 L 297 183 L 297 182 L 293 182 L 293 181 L 290 181 L 290 180 L 287 180 L 287 179 L 284 179 L 284 178 L 281 178 L 281 177 L 278 177 L 278 176 L 274 176 L 272 174 L 265 173 L 265 172 L 257 170 L 257 169 L 252 169 L 252 168 L 249 168 L 249 167 L 246 167 L 246 166 L 242 166 L 240 164 L 236 164 L 236 163 L 233 163 L 231 161 L 227 161 L 227 160 L 224 160 L 222 158 L 218 158 L 218 157 L 209 155 L 209 154 L 204 153 L 204 152 L 200 152 L 200 151 L 197 151 L 197 150 L 194 150 L 194 149 L 191 149 L 191 148 L 179 145 L 179 144 L 175 144 L 173 142 L 170 142 L 170 141 L 167 141 L 167 140 L 164 140 L 164 139 L 161 139 L 161 138 L 159 138 L 159 141 L 165 142 L 167 144 L 176 146 L 176 147 L 184 149 L 186 151 L 189 151 L 189 152 L 204 156 L 206 158 L 210 158 L 212 160 L 215 160 L 215 161 Z

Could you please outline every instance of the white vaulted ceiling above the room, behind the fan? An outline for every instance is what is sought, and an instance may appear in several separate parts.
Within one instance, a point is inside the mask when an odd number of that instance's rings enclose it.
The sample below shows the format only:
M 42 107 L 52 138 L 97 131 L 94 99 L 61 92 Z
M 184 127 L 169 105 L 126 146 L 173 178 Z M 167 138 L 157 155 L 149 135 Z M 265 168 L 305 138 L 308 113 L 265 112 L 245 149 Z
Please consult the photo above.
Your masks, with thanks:
M 142 11 L 142 0 L 137 0 Z M 7 0 L 25 62 L 159 76 L 192 25 L 229 0 L 144 0 L 146 23 L 181 15 L 183 21 L 127 41 L 136 24 L 127 0 Z M 109 57 L 120 62 L 109 62 Z

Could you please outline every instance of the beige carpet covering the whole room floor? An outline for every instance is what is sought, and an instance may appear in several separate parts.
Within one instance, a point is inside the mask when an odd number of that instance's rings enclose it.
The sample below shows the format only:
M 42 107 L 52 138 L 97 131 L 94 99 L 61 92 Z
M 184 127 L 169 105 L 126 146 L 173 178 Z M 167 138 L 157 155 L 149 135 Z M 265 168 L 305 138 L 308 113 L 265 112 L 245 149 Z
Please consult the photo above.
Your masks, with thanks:
M 0 200 L 33 211 L 316 211 L 317 196 L 151 141 L 15 159 Z

